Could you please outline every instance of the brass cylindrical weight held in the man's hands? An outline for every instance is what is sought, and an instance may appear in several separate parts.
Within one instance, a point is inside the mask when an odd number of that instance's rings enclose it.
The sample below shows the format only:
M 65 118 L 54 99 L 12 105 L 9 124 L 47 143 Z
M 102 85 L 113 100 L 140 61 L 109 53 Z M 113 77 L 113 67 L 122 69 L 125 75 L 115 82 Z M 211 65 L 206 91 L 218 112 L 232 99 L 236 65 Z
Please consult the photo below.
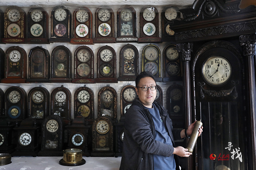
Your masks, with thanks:
M 200 121 L 196 121 L 194 129 L 192 131 L 192 134 L 190 135 L 189 141 L 188 141 L 188 145 L 187 145 L 187 149 L 188 152 L 192 153 L 193 149 L 195 147 L 196 144 L 196 140 L 199 134 L 199 129 L 202 127 L 203 123 Z

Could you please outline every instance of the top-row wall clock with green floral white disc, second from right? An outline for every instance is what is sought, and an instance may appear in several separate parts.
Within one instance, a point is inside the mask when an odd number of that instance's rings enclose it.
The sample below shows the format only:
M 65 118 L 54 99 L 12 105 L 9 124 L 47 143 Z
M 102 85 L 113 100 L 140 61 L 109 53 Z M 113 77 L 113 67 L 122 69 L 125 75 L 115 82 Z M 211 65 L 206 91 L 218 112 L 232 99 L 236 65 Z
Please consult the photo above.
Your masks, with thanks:
M 161 42 L 159 37 L 159 16 L 156 7 L 140 10 L 140 38 L 139 43 Z

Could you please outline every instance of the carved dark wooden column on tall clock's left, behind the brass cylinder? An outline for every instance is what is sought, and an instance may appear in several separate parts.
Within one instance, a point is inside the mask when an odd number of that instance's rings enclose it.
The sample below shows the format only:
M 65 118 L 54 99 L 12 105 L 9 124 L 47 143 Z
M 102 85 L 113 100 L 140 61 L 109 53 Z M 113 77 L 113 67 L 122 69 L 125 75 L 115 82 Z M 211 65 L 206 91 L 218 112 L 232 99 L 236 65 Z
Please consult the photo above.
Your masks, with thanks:
M 176 48 L 178 52 L 181 54 L 181 61 L 183 63 L 183 100 L 185 104 L 185 119 L 186 119 L 186 127 L 191 124 L 191 88 L 190 88 L 190 60 L 191 60 L 191 52 L 193 51 L 193 44 L 192 43 L 181 43 L 177 44 Z M 193 120 L 195 117 L 193 117 Z M 194 122 L 194 121 L 193 121 Z M 188 139 L 187 139 L 188 143 Z M 195 148 L 196 149 L 196 148 Z M 194 149 L 194 150 L 195 150 Z M 196 151 L 196 150 L 195 150 Z M 186 169 L 192 170 L 193 169 L 193 157 L 190 156 L 187 159 L 187 167 Z M 197 162 L 197 161 L 196 161 Z

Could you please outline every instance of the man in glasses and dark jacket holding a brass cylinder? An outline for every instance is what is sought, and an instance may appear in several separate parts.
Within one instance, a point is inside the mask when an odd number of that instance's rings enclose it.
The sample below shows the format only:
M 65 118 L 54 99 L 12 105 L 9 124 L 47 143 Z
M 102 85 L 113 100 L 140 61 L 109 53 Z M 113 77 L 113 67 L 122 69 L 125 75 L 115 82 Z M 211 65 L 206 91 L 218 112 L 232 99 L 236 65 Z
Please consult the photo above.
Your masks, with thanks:
M 139 98 L 133 101 L 125 115 L 120 170 L 179 169 L 178 156 L 192 154 L 181 146 L 174 147 L 174 140 L 186 137 L 185 129 L 173 129 L 167 110 L 154 102 L 156 81 L 152 74 L 141 72 L 135 84 Z M 187 136 L 191 135 L 194 125 L 195 122 L 186 129 Z M 202 129 L 199 129 L 199 136 Z

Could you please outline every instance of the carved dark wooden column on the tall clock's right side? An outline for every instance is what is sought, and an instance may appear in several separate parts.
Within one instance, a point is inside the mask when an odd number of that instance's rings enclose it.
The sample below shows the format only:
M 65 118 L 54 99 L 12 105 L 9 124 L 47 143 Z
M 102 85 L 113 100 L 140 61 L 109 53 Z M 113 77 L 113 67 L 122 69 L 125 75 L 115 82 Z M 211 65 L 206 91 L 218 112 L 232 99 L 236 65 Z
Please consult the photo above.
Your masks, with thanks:
M 255 67 L 254 67 L 254 56 L 255 56 L 255 34 L 241 35 L 239 37 L 240 45 L 243 47 L 243 54 L 246 57 L 246 77 L 247 77 L 247 107 L 249 112 L 249 117 L 247 122 L 249 122 L 250 137 L 249 146 L 251 148 L 248 151 L 248 159 L 250 164 L 248 169 L 255 170 L 256 168 L 256 122 L 255 122 L 255 106 L 256 106 L 256 89 L 255 89 Z

